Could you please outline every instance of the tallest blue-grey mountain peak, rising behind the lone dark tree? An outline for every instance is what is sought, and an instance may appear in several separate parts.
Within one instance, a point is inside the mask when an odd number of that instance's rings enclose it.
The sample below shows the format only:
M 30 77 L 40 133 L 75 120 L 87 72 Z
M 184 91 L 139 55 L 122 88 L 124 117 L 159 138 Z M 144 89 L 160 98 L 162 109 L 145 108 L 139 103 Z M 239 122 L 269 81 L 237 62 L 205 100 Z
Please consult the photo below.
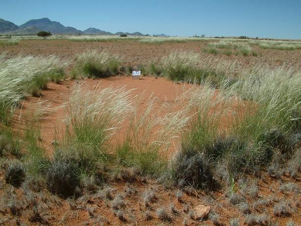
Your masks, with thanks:
M 64 26 L 59 22 L 50 21 L 48 18 L 30 20 L 19 27 L 25 28 L 27 26 L 35 26 L 40 30 L 50 31 L 52 34 L 83 34 L 81 30 L 71 26 Z

